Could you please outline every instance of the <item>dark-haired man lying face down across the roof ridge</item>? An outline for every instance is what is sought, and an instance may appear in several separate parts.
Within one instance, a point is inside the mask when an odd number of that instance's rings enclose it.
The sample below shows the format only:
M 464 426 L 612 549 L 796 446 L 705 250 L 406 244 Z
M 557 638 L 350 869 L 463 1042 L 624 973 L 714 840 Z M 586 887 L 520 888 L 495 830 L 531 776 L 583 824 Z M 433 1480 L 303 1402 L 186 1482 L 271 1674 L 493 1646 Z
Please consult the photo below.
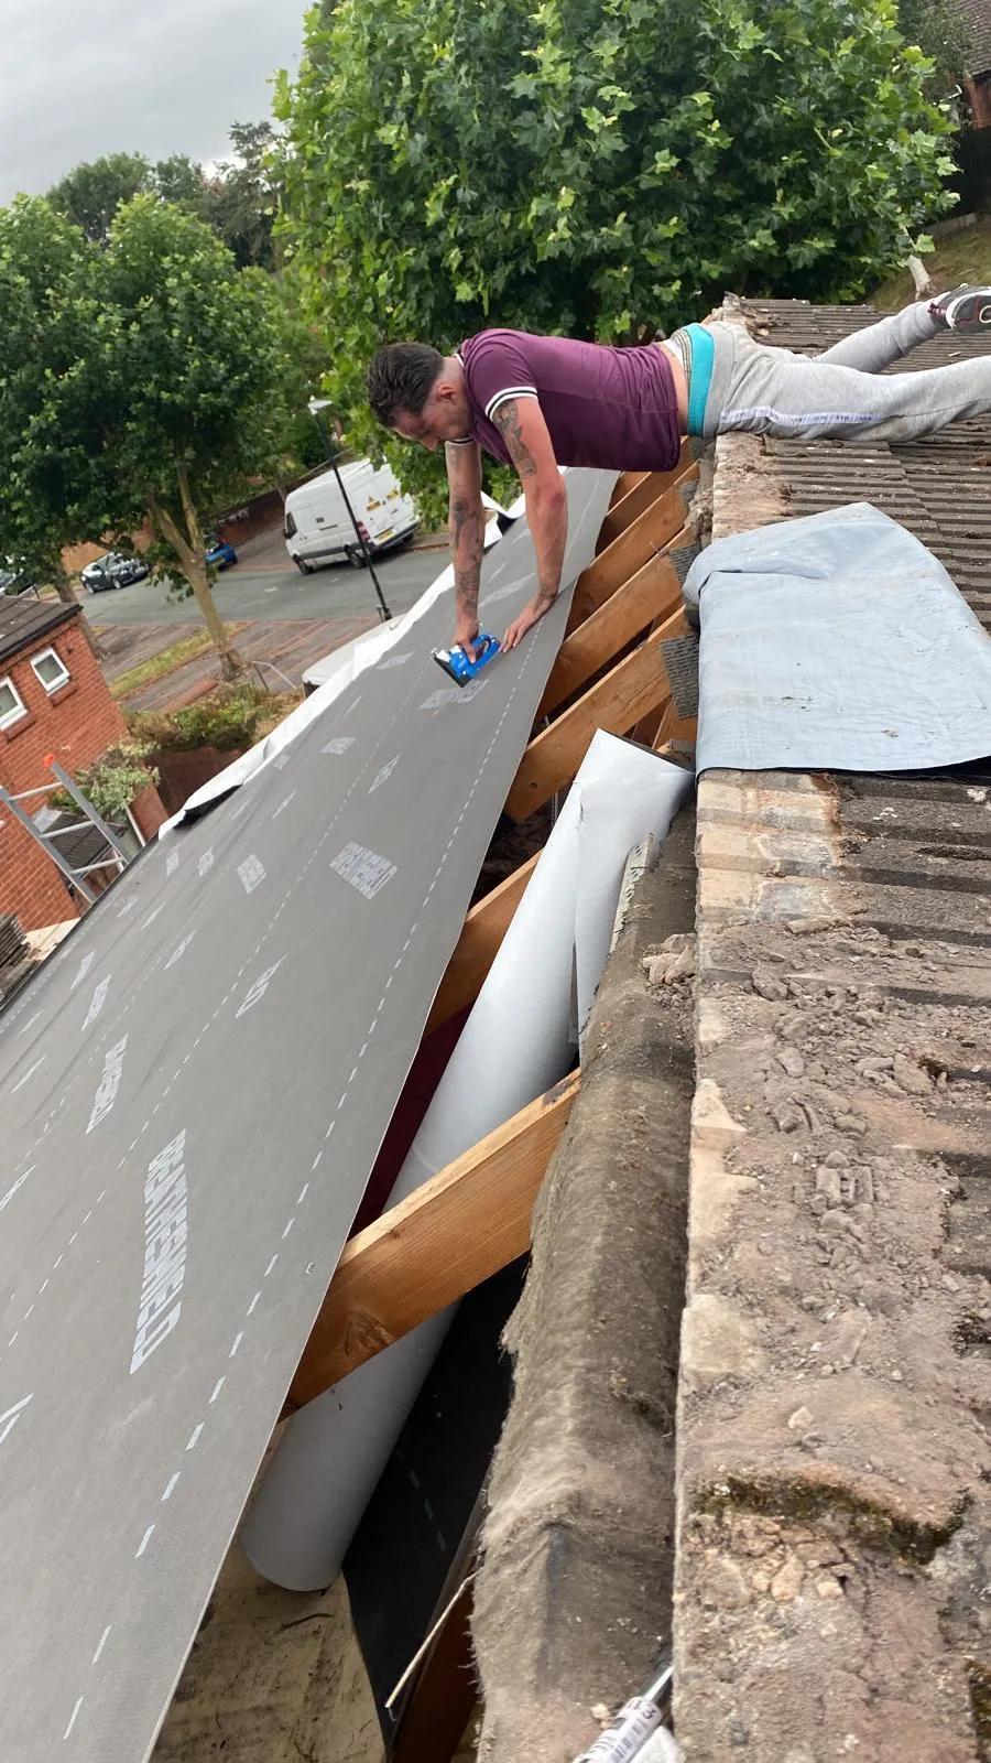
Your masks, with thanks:
M 369 368 L 377 420 L 444 446 L 455 566 L 455 642 L 474 659 L 483 555 L 480 448 L 518 472 L 536 548 L 538 592 L 503 649 L 557 599 L 568 499 L 559 465 L 672 471 L 682 435 L 913 441 L 991 411 L 991 356 L 922 374 L 882 370 L 943 330 L 991 335 L 991 287 L 957 287 L 845 337 L 818 356 L 755 342 L 742 324 L 689 324 L 668 342 L 614 349 L 568 337 L 488 330 L 443 356 L 421 342 L 379 349 Z

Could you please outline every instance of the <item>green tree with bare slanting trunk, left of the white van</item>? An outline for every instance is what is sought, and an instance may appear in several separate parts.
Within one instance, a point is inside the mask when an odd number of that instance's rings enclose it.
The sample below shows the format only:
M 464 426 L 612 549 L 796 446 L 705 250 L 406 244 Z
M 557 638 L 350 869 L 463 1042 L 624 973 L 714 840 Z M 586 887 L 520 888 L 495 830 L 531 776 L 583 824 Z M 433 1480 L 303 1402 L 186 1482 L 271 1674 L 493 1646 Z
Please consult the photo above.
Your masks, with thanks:
M 148 518 L 226 677 L 203 511 L 275 472 L 280 386 L 273 284 L 196 217 L 138 196 L 99 247 L 46 201 L 0 210 L 0 538 L 32 555 Z

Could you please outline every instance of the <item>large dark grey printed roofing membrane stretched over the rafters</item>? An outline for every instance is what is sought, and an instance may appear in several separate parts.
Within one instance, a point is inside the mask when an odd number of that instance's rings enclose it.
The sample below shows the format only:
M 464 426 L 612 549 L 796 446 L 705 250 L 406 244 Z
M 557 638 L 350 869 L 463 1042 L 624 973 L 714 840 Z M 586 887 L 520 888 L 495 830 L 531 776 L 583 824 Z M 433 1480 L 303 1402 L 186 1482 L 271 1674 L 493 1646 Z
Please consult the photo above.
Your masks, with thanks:
M 614 474 L 566 485 L 570 582 Z M 520 522 L 485 626 L 533 569 Z M 566 603 L 466 691 L 430 659 L 451 615 L 148 848 L 0 1017 L 4 1763 L 152 1751 Z

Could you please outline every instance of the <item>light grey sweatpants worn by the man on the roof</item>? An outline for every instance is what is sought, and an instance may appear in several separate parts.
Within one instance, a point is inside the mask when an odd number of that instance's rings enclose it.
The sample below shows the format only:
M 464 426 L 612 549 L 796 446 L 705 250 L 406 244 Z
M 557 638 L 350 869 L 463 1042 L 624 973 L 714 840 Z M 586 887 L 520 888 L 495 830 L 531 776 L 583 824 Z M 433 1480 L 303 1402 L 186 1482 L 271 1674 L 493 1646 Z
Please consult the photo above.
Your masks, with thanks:
M 755 342 L 742 324 L 707 326 L 716 346 L 705 435 L 748 430 L 786 441 L 913 441 L 991 411 L 991 356 L 922 374 L 883 374 L 943 330 L 926 303 L 845 337 L 818 356 Z

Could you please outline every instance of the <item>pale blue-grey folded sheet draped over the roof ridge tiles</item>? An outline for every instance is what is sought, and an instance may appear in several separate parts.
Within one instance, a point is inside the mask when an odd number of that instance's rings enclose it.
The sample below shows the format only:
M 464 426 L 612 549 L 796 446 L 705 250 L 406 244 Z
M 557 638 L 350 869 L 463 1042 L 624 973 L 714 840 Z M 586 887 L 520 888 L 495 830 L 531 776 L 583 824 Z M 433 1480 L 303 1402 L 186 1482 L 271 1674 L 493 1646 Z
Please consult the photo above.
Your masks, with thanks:
M 869 502 L 718 539 L 700 617 L 712 765 L 922 770 L 991 751 L 991 643 L 943 566 Z

